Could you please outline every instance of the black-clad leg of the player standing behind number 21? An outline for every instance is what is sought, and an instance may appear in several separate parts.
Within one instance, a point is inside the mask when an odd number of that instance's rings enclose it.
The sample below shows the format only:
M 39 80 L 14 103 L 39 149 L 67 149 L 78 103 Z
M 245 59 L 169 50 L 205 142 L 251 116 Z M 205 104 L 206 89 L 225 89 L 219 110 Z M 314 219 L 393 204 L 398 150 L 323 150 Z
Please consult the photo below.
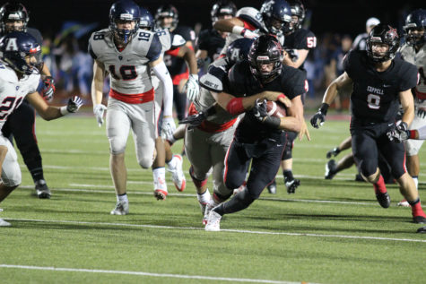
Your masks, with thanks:
M 39 198 L 50 198 L 51 193 L 43 174 L 43 165 L 35 133 L 35 110 L 26 100 L 8 117 L 8 126 L 23 162 L 30 171 Z

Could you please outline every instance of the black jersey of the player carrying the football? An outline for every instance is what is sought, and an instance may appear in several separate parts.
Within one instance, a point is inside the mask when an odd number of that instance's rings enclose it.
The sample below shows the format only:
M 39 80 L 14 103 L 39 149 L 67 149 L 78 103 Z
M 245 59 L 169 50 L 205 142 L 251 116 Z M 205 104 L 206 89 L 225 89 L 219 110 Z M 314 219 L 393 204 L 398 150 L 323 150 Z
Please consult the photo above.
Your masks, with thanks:
M 264 90 L 280 91 L 289 99 L 305 93 L 307 90 L 306 75 L 299 69 L 283 65 L 282 72 L 272 82 L 262 85 L 250 71 L 248 60 L 243 60 L 230 68 L 223 83 L 223 91 L 235 97 L 248 97 Z M 280 140 L 281 130 L 270 129 L 257 121 L 248 111 L 236 130 L 239 142 L 258 142 L 265 138 Z

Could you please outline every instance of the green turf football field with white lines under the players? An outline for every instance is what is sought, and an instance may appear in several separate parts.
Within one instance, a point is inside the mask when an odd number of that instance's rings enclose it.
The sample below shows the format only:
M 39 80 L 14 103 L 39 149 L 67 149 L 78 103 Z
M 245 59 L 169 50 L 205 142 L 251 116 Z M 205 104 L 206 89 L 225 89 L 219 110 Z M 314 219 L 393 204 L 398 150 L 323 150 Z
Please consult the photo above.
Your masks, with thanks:
M 326 151 L 349 135 L 348 121 L 309 126 L 312 141 L 296 142 L 287 194 L 261 195 L 247 210 L 226 215 L 221 232 L 205 232 L 196 192 L 152 194 L 152 171 L 141 169 L 130 136 L 126 151 L 130 214 L 111 216 L 116 197 L 109 175 L 105 126 L 93 116 L 45 122 L 37 133 L 50 200 L 39 200 L 19 155 L 22 185 L 0 208 L 13 224 L 0 228 L 4 283 L 422 283 L 426 234 L 415 234 L 411 210 L 388 185 L 382 209 L 371 185 L 353 181 L 355 168 L 324 179 Z M 182 142 L 173 146 L 182 151 Z M 342 152 L 337 159 L 343 157 Z M 419 186 L 426 202 L 426 150 Z M 209 181 L 209 187 L 212 187 Z M 423 204 L 423 208 L 425 208 Z M 423 272 L 422 272 L 423 271 Z

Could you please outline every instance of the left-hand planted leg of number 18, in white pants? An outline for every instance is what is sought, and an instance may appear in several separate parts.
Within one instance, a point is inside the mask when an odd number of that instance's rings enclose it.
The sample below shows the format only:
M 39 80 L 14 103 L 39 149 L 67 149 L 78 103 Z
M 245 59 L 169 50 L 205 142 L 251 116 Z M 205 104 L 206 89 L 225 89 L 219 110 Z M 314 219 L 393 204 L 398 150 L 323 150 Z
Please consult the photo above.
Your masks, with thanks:
M 110 98 L 107 110 L 107 136 L 110 151 L 109 170 L 117 195 L 116 208 L 111 211 L 111 214 L 114 215 L 126 215 L 128 213 L 125 151 L 131 122 L 126 112 L 120 108 L 121 105 L 124 106 L 126 104 Z

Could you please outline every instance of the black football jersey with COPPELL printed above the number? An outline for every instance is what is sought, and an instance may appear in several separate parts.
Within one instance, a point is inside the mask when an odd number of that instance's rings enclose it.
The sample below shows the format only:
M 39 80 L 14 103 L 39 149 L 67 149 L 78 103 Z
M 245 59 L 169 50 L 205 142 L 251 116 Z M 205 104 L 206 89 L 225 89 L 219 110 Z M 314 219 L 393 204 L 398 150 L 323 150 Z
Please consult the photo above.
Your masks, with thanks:
M 343 68 L 353 81 L 352 119 L 369 123 L 394 122 L 399 92 L 417 84 L 417 68 L 397 57 L 384 72 L 378 72 L 365 50 L 352 50 L 343 58 Z

